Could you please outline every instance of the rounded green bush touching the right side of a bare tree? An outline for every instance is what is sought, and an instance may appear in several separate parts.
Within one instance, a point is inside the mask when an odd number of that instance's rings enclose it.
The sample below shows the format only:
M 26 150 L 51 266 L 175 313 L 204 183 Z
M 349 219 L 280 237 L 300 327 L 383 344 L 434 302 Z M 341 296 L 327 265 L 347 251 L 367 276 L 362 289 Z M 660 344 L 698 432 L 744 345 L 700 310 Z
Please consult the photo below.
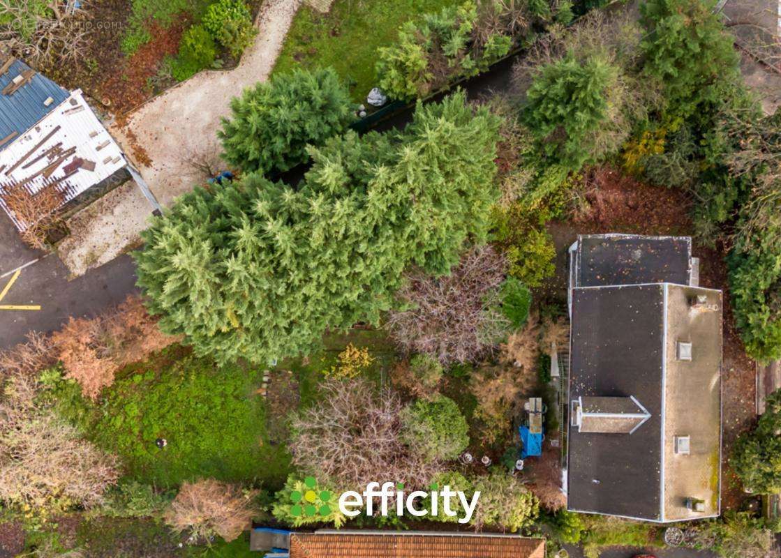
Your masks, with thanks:
M 403 441 L 431 463 L 454 460 L 469 446 L 469 425 L 449 397 L 417 400 L 401 412 Z

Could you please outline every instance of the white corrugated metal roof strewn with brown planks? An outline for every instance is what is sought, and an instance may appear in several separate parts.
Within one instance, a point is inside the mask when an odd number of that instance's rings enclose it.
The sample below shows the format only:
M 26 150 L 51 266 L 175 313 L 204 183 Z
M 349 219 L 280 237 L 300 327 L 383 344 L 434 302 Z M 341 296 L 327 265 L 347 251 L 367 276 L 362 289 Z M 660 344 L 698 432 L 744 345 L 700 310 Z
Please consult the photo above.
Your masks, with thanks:
M 76 165 L 77 159 L 83 161 L 80 167 Z M 61 163 L 56 169 L 49 176 L 44 176 L 44 169 L 58 161 Z M 91 167 L 92 163 L 95 164 L 94 170 L 85 168 Z M 19 184 L 30 194 L 35 194 L 54 183 L 63 194 L 64 205 L 125 165 L 127 162 L 119 145 L 87 105 L 81 91 L 76 90 L 44 119 L 0 151 L 0 194 Z M 2 195 L 0 206 L 17 229 L 25 229 L 24 223 L 15 219 L 5 206 Z

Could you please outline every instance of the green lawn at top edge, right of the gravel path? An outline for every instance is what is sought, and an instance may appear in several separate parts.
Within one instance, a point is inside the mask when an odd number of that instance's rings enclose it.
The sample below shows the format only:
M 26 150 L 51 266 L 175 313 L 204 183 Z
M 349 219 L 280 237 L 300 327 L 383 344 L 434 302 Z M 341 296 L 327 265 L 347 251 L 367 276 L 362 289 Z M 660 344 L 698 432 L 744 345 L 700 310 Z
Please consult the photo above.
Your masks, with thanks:
M 348 80 L 355 101 L 363 101 L 376 85 L 377 47 L 393 43 L 401 23 L 456 4 L 458 0 L 334 0 L 325 15 L 301 6 L 274 72 L 289 72 L 295 66 L 333 66 Z

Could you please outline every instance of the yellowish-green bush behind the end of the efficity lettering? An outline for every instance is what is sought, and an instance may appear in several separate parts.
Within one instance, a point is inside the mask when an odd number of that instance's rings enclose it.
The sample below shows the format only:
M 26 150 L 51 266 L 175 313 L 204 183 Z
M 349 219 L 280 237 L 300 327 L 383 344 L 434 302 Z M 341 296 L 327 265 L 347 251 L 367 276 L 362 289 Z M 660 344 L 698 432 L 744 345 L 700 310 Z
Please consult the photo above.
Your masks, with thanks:
M 472 522 L 477 528 L 501 528 L 515 532 L 529 527 L 540 514 L 540 502 L 520 478 L 494 468 L 490 474 L 473 479 L 480 491 Z

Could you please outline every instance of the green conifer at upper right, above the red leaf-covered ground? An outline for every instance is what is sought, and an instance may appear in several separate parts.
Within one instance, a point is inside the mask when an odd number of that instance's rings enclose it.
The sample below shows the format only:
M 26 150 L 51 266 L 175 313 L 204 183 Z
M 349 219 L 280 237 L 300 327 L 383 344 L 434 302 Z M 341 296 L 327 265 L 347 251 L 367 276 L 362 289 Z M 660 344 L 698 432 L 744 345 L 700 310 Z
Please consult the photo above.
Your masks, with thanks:
M 594 162 L 594 134 L 608 122 L 618 75 L 605 59 L 579 60 L 572 52 L 537 70 L 524 117 L 545 156 L 575 171 Z

